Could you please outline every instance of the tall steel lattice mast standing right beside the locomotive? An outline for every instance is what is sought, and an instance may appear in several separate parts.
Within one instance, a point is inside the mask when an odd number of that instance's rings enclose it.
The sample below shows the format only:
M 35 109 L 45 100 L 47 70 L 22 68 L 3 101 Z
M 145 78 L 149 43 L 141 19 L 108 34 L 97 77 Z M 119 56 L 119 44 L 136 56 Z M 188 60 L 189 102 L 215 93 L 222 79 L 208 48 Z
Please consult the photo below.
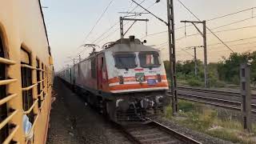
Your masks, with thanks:
M 167 0 L 167 26 L 170 54 L 170 94 L 172 95 L 173 115 L 178 113 L 177 82 L 176 82 L 176 54 L 174 33 L 174 1 Z

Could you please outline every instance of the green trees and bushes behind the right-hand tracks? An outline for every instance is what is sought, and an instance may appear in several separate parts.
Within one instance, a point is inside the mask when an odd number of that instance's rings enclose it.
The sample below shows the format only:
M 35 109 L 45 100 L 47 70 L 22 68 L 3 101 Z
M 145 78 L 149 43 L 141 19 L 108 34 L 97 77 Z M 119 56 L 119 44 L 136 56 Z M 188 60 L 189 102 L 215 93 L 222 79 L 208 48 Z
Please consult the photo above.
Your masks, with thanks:
M 253 53 L 230 54 L 229 58 L 223 58 L 221 62 L 209 63 L 208 78 L 210 87 L 223 87 L 225 82 L 238 85 L 240 82 L 239 68 L 240 64 L 253 60 L 250 66 L 251 82 L 256 85 L 256 51 Z M 178 61 L 176 64 L 176 72 L 178 81 L 185 80 L 190 86 L 203 86 L 204 84 L 204 66 L 203 62 L 197 60 L 198 75 L 194 72 L 194 60 Z M 170 75 L 170 62 L 164 62 L 167 77 Z

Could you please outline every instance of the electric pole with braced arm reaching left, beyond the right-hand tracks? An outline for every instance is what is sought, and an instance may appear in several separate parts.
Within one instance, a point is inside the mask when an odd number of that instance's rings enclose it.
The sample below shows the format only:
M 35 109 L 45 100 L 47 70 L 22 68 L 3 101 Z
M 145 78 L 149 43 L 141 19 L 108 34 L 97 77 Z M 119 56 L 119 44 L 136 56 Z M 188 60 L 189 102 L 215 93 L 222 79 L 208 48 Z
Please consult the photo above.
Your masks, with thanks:
M 192 23 L 203 38 L 203 52 L 204 52 L 204 74 L 205 74 L 205 87 L 208 87 L 208 74 L 207 74 L 207 42 L 206 42 L 206 21 L 181 21 L 185 23 Z M 195 25 L 195 23 L 201 23 L 203 26 L 203 32 Z

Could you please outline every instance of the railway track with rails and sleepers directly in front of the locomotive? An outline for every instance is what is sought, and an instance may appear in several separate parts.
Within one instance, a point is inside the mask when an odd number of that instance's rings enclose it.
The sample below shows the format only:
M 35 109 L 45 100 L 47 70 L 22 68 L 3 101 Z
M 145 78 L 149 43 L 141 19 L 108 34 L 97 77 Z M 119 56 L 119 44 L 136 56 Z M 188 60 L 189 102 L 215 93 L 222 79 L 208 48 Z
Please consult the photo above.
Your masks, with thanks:
M 132 143 L 137 144 L 199 144 L 201 142 L 195 141 L 186 135 L 180 134 L 169 127 L 154 121 L 146 124 L 134 124 L 132 126 L 121 126 L 114 124 L 122 131 Z

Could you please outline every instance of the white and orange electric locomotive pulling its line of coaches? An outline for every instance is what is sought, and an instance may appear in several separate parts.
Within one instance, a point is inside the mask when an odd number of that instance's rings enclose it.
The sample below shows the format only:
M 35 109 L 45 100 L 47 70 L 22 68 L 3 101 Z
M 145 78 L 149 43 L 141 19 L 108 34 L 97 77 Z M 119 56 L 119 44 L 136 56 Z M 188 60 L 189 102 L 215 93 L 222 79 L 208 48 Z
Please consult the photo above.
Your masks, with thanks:
M 159 50 L 134 36 L 102 47 L 58 76 L 114 122 L 144 121 L 161 113 L 170 101 Z

